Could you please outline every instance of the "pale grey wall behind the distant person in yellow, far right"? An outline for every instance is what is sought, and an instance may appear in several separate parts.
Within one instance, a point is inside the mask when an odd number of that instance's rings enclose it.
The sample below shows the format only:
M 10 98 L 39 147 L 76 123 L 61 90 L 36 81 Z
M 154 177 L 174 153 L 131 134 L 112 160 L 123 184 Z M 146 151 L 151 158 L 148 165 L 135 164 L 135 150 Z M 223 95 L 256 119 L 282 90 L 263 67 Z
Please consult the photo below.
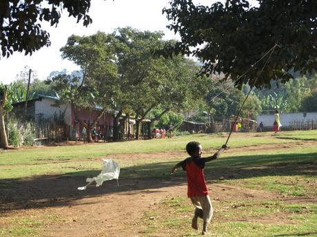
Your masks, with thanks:
M 280 123 L 282 124 L 282 128 L 287 128 L 289 126 L 289 122 L 294 120 L 314 120 L 317 121 L 317 112 L 314 113 L 280 113 Z M 260 122 L 263 122 L 265 128 L 272 128 L 275 121 L 275 115 L 258 115 L 256 117 L 256 122 L 258 125 Z

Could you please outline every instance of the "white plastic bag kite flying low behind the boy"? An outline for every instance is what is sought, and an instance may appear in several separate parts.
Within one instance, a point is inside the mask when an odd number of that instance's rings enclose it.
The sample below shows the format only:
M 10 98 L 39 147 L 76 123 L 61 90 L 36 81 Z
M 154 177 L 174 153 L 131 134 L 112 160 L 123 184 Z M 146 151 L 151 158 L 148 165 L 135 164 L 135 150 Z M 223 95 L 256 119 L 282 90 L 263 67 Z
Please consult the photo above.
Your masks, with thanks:
M 90 185 L 94 181 L 96 182 L 96 187 L 99 187 L 103 184 L 103 181 L 108 181 L 112 179 L 116 179 L 116 182 L 119 185 L 119 174 L 119 163 L 116 163 L 116 161 L 114 161 L 113 159 L 103 159 L 103 170 L 101 170 L 101 173 L 97 177 L 87 178 L 86 182 L 88 182 L 88 184 L 83 187 L 78 187 L 78 189 L 85 190 L 88 187 L 88 185 Z

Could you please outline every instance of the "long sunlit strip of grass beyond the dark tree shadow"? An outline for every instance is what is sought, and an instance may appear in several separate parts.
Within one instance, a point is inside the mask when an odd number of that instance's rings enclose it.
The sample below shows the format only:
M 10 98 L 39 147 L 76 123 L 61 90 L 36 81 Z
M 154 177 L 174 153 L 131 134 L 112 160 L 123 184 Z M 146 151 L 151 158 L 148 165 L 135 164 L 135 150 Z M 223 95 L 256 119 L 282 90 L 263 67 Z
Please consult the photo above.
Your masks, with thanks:
M 233 134 L 229 146 L 242 147 L 258 144 L 292 143 L 294 141 L 275 139 L 274 137 L 237 137 Z M 172 139 L 154 139 L 132 142 L 113 142 L 106 144 L 92 144 L 88 146 L 54 146 L 37 147 L 34 149 L 9 150 L 1 153 L 0 165 L 34 165 L 51 163 L 52 161 L 70 161 L 72 159 L 90 159 L 94 157 L 105 157 L 105 155 L 130 154 L 130 153 L 154 153 L 171 150 L 185 150 L 187 142 L 196 140 L 201 142 L 205 150 L 220 148 L 225 143 L 226 137 L 217 135 L 186 135 L 173 137 Z

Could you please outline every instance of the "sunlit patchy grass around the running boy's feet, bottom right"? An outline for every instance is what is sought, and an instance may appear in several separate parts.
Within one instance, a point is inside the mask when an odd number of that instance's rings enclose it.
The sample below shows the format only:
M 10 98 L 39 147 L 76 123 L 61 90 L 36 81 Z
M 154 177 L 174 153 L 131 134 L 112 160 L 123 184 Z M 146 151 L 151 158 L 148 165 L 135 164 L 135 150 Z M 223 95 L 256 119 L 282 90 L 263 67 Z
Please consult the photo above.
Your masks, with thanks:
M 228 202 L 230 205 L 228 206 Z M 253 236 L 316 236 L 317 204 L 305 203 L 289 205 L 281 201 L 214 201 L 214 217 L 209 225 L 212 236 L 253 237 Z M 178 206 L 190 205 L 187 213 L 177 213 Z M 148 229 L 147 236 L 159 233 L 174 233 L 174 236 L 201 236 L 201 232 L 191 229 L 194 207 L 184 199 L 170 199 L 157 209 L 164 209 L 165 216 L 150 221 L 143 218 Z M 151 213 L 159 215 L 155 210 Z M 271 217 L 272 216 L 272 217 Z M 201 226 L 201 220 L 198 222 Z M 154 227 L 155 226 L 155 227 Z M 156 232 L 154 231 L 156 230 Z M 168 234 L 167 234 L 168 236 Z

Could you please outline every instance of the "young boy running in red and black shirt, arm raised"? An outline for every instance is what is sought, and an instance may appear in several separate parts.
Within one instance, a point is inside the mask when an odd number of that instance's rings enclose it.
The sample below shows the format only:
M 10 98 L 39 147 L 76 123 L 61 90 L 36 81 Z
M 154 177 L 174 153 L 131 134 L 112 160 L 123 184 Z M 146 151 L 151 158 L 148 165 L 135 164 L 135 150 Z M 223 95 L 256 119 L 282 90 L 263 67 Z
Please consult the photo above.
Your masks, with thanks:
M 203 148 L 199 142 L 189 142 L 186 146 L 186 151 L 190 155 L 187 159 L 176 163 L 174 168 L 171 170 L 171 174 L 176 172 L 177 168 L 182 167 L 187 174 L 187 196 L 194 204 L 195 212 L 192 218 L 192 228 L 198 229 L 197 219 L 198 217 L 203 218 L 203 232 L 207 234 L 207 224 L 212 219 L 212 201 L 210 201 L 207 185 L 203 173 L 205 163 L 216 159 L 221 152 L 227 148 L 223 145 L 218 152 L 211 157 L 203 158 Z

